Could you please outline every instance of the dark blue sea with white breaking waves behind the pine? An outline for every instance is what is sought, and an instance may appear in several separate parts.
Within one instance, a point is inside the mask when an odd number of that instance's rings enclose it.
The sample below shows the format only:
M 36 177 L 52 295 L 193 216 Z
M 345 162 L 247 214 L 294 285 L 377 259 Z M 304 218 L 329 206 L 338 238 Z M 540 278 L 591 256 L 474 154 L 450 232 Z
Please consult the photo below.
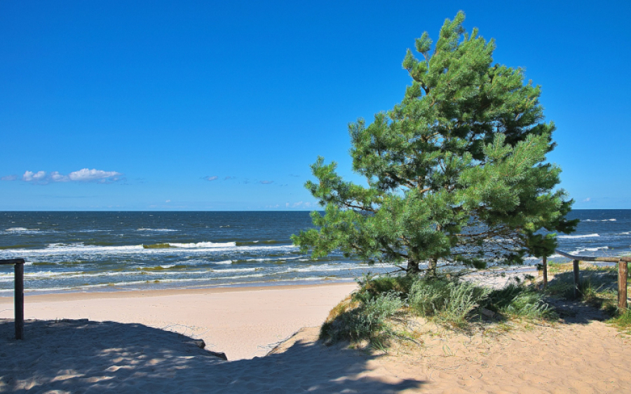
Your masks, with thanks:
M 581 223 L 559 235 L 559 249 L 631 253 L 631 210 L 575 210 L 569 218 Z M 341 253 L 300 253 L 290 237 L 312 227 L 306 211 L 4 211 L 0 259 L 26 260 L 26 293 L 334 283 L 395 271 Z M 0 296 L 12 293 L 13 266 L 0 266 Z

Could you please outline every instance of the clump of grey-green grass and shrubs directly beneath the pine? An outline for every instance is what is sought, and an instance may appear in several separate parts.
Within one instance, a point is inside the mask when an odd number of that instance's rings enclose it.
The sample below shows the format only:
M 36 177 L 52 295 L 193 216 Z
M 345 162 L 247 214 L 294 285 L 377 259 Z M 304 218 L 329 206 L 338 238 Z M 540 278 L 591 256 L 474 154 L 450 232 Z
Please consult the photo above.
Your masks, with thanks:
M 421 317 L 468 330 L 479 323 L 555 316 L 541 293 L 518 284 L 493 290 L 445 276 L 412 275 L 366 276 L 359 283 L 357 292 L 332 309 L 320 339 L 327 343 L 367 340 L 384 347 L 391 339 L 410 337 L 410 332 L 393 324 L 406 318 Z

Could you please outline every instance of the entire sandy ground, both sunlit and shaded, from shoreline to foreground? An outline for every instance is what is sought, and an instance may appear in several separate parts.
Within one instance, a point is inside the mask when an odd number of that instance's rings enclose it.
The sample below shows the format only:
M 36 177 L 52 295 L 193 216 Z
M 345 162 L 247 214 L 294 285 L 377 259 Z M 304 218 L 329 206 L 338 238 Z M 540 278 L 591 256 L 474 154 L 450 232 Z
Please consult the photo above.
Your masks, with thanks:
M 0 392 L 631 393 L 630 339 L 578 304 L 554 325 L 499 335 L 435 327 L 422 346 L 388 354 L 320 344 L 318 325 L 354 288 L 27 295 L 25 317 L 37 320 L 24 341 L 2 298 Z

